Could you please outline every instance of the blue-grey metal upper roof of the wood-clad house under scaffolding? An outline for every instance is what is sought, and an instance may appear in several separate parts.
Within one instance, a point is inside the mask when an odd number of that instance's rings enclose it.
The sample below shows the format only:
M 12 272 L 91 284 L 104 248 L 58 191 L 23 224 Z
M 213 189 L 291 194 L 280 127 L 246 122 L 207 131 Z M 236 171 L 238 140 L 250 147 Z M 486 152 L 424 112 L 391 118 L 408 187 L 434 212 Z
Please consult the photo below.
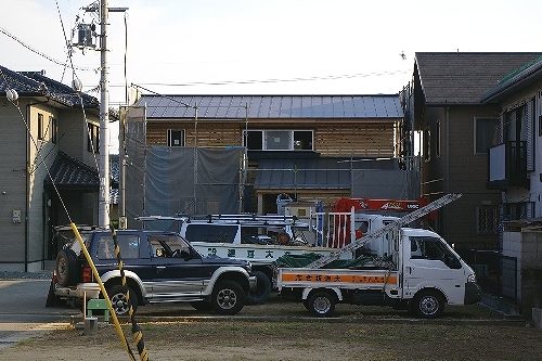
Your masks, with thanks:
M 154 119 L 300 119 L 403 117 L 398 94 L 383 95 L 142 95 Z M 246 109 L 248 106 L 248 112 Z

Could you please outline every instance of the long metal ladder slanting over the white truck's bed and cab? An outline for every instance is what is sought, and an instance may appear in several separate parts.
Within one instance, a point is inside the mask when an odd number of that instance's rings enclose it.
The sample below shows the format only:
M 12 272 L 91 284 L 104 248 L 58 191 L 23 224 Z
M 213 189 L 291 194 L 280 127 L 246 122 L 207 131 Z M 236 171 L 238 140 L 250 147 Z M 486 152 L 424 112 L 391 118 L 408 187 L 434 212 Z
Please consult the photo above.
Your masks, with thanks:
M 367 235 L 346 245 L 345 247 L 343 247 L 340 249 L 332 252 L 328 256 L 321 257 L 321 258 L 317 259 L 312 263 L 309 263 L 306 268 L 321 268 L 321 267 L 330 263 L 331 261 L 338 259 L 341 255 L 349 253 L 349 252 L 353 252 L 353 250 L 362 247 L 366 243 L 379 238 L 380 236 L 385 235 L 388 232 L 391 232 L 393 230 L 398 230 L 401 227 L 406 225 L 406 224 L 415 221 L 416 219 L 422 218 L 425 215 L 428 215 L 431 211 L 437 210 L 437 209 L 446 206 L 447 204 L 459 199 L 461 196 L 462 196 L 461 193 L 447 194 L 443 197 L 438 198 L 437 201 L 429 203 L 427 206 L 422 207 L 417 210 L 414 210 L 413 212 L 411 212 L 404 217 L 399 218 L 397 221 L 389 223 L 389 224 L 387 224 L 378 230 L 375 230 L 374 232 L 369 233 Z

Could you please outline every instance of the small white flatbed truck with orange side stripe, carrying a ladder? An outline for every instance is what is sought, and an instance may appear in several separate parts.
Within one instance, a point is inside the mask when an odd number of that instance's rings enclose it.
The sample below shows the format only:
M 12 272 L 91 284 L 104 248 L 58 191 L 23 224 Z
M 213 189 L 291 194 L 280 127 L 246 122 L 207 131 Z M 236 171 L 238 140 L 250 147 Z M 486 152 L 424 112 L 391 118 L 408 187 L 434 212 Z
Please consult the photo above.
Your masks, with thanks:
M 279 267 L 275 282 L 281 295 L 302 301 L 317 317 L 330 315 L 337 302 L 409 308 L 429 319 L 441 315 L 446 304 L 477 302 L 481 293 L 475 272 L 442 237 L 428 230 L 401 228 L 416 217 L 389 218 L 390 223 L 305 268 Z M 380 244 L 372 246 L 373 242 Z M 386 256 L 385 266 L 321 268 L 362 246 Z

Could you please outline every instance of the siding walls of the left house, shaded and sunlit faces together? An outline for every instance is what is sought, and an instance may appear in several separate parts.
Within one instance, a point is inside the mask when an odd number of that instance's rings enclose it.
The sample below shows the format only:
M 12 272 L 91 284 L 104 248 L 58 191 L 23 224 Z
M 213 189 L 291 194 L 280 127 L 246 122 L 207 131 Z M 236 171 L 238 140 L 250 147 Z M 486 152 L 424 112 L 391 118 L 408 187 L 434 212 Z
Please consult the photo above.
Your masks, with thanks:
M 0 99 L 0 269 L 24 271 L 26 263 L 26 270 L 36 271 L 42 269 L 50 244 L 43 192 L 47 169 L 59 150 L 85 160 L 87 132 L 80 109 L 64 109 L 36 99 L 20 99 L 18 104 L 34 141 L 17 108 Z M 43 116 L 42 140 L 38 139 L 38 114 Z M 95 119 L 89 113 L 87 116 Z M 57 144 L 52 143 L 50 117 L 57 120 Z M 88 164 L 94 165 L 93 160 Z M 74 209 L 80 207 L 79 199 Z M 21 210 L 21 223 L 12 221 L 13 210 Z

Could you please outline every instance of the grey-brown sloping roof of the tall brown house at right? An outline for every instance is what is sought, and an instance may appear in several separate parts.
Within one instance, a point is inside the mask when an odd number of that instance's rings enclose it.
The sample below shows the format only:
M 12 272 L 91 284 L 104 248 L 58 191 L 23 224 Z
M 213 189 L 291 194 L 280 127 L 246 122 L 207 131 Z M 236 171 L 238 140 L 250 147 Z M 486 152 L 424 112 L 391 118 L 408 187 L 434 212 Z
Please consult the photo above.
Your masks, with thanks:
M 499 81 L 542 53 L 416 53 L 427 104 L 480 104 Z

